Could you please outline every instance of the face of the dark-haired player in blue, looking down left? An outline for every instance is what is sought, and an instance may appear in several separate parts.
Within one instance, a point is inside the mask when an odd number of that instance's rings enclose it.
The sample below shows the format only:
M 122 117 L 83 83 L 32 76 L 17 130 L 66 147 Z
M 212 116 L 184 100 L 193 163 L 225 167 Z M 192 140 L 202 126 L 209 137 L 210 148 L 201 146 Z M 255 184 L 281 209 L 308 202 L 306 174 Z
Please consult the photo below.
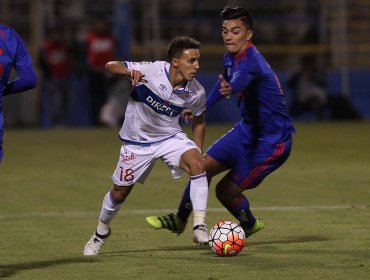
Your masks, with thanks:
M 245 50 L 252 39 L 253 31 L 247 29 L 240 19 L 225 20 L 222 25 L 222 39 L 225 49 L 232 55 Z

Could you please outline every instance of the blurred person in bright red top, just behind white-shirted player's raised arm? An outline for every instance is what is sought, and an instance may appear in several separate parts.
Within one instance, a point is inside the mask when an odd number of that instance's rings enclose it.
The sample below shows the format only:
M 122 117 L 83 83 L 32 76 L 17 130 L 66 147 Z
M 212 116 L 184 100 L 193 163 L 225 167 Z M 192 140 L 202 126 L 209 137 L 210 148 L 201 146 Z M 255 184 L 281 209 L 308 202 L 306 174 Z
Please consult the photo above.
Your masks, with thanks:
M 103 17 L 95 18 L 93 29 L 87 34 L 86 55 L 89 73 L 89 93 L 93 124 L 100 123 L 100 110 L 108 98 L 110 76 L 105 64 L 115 59 L 117 40 Z M 113 81 L 113 80 L 112 80 Z

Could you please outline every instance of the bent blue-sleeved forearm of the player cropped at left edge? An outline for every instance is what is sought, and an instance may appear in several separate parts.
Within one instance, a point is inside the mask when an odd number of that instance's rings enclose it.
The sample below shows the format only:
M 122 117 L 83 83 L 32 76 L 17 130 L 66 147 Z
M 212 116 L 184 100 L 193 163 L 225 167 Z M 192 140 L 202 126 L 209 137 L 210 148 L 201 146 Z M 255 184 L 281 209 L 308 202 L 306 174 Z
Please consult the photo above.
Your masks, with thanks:
M 4 96 L 30 90 L 37 85 L 37 75 L 32 66 L 16 69 L 16 71 L 19 77 L 7 83 Z

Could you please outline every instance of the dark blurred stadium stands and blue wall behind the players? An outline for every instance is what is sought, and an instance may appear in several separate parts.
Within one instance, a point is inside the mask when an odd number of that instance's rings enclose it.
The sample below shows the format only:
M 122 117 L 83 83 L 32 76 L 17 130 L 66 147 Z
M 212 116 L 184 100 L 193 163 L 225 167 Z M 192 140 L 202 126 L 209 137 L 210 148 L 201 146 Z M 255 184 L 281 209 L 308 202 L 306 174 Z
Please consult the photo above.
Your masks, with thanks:
M 328 93 L 349 97 L 364 117 L 370 117 L 370 1 L 2 0 L 0 18 L 24 38 L 35 62 L 48 27 L 61 25 L 67 39 L 79 40 L 96 15 L 110 19 L 119 39 L 117 59 L 166 59 L 166 44 L 172 36 L 194 36 L 203 44 L 199 80 L 210 89 L 222 69 L 218 15 L 226 4 L 242 5 L 252 12 L 254 43 L 277 71 L 288 105 L 291 93 L 286 77 L 299 66 L 300 58 L 313 54 L 325 70 Z M 81 88 L 77 94 L 83 98 L 85 90 Z M 83 99 L 81 102 L 84 104 Z M 40 87 L 34 94 L 6 98 L 5 125 L 40 125 L 39 104 Z M 238 113 L 230 108 L 218 104 L 208 113 L 208 120 L 234 121 Z M 88 124 L 81 120 L 79 110 L 76 106 L 72 123 Z M 310 115 L 303 117 L 310 119 Z

